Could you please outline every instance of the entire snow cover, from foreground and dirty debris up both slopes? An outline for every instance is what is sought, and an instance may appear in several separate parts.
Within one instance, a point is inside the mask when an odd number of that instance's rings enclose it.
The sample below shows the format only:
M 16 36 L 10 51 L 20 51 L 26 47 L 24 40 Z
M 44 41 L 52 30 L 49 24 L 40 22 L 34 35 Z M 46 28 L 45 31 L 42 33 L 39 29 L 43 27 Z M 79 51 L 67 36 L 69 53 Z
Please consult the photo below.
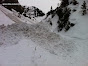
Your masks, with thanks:
M 0 26 L 0 66 L 88 66 L 88 15 L 81 16 L 79 7 L 70 18 L 76 25 L 60 33 L 53 32 L 56 23 L 51 27 L 40 20 L 45 16 L 38 18 L 40 22 L 28 21 L 23 16 L 25 23 L 7 9 L 3 13 L 2 9 L 0 24 L 6 21 L 3 23 L 6 26 Z M 55 20 L 57 15 L 52 19 Z

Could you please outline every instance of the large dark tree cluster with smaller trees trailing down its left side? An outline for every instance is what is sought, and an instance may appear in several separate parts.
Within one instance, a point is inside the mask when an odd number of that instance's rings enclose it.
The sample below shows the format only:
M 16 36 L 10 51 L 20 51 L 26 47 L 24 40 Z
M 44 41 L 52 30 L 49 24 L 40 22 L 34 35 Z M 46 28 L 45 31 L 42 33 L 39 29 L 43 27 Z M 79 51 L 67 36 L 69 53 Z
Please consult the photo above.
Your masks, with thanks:
M 74 0 L 75 1 L 75 0 Z M 76 1 L 75 1 L 76 2 Z M 62 0 L 61 5 L 57 6 L 57 8 L 55 10 L 51 10 L 47 13 L 46 18 L 50 15 L 51 19 L 54 19 L 55 17 L 58 18 L 57 21 L 57 26 L 55 28 L 57 28 L 57 31 L 62 31 L 63 29 L 65 31 L 68 31 L 71 27 L 73 27 L 75 24 L 71 23 L 69 18 L 71 15 L 71 8 L 68 7 L 70 4 L 69 0 Z M 52 12 L 51 12 L 52 11 Z M 76 10 L 74 10 L 76 11 Z M 46 19 L 45 18 L 45 19 Z M 48 18 L 49 19 L 49 18 Z M 53 21 L 50 19 L 50 25 L 53 26 Z

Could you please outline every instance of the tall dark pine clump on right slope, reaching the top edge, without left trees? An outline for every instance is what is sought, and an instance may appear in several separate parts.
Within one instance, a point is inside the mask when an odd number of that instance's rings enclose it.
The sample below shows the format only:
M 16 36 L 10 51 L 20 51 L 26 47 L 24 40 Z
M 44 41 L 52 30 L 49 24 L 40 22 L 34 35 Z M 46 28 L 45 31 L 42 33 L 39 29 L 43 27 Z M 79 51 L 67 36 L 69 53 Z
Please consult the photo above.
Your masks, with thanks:
M 59 19 L 57 22 L 58 32 L 62 31 L 63 29 L 65 31 L 68 31 L 71 27 L 75 25 L 74 23 L 71 23 L 69 21 L 69 17 L 71 15 L 71 9 L 68 7 L 68 5 L 69 5 L 69 0 L 62 0 L 60 7 L 57 7 L 54 10 L 54 14 L 57 14 Z

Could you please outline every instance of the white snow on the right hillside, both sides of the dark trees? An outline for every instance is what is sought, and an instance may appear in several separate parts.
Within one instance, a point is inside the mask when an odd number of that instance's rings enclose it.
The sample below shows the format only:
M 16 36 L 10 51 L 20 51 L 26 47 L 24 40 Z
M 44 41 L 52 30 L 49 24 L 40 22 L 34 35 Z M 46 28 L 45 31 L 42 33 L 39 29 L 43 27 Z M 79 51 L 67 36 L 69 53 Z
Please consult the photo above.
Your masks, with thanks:
M 47 19 L 44 20 L 44 22 L 47 24 L 48 29 L 51 30 L 51 32 L 55 32 L 57 34 L 64 35 L 66 37 L 71 37 L 71 38 L 78 38 L 78 39 L 88 39 L 88 14 L 85 16 L 82 16 L 82 10 L 81 10 L 81 5 L 83 4 L 83 0 L 77 0 L 79 4 L 77 5 L 72 5 L 70 4 L 68 7 L 73 10 L 76 9 L 76 12 L 71 11 L 71 16 L 70 16 L 70 22 L 74 23 L 75 26 L 71 27 L 69 31 L 65 32 L 64 29 L 61 32 L 58 32 L 57 30 L 57 21 L 58 21 L 58 16 L 55 15 L 54 18 L 48 16 Z M 87 0 L 85 0 L 88 2 Z M 88 8 L 88 7 L 87 7 Z M 87 11 L 88 13 L 88 11 Z M 51 20 L 52 26 L 50 26 L 48 20 Z

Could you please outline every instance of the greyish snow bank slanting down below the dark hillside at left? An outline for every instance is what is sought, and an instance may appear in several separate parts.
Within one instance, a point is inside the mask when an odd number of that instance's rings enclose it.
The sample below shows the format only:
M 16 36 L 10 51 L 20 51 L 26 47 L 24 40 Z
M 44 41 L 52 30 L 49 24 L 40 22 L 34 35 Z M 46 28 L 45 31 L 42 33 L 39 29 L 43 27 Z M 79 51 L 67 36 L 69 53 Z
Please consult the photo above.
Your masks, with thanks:
M 13 11 L 9 11 L 8 9 L 4 8 L 3 6 L 0 6 L 0 10 L 7 16 L 9 17 L 12 21 L 16 22 L 16 23 L 28 23 L 28 24 L 34 24 L 37 23 L 37 20 L 31 20 L 27 17 L 24 17 L 23 15 L 20 15 L 21 18 L 18 17 L 18 12 L 13 12 Z

